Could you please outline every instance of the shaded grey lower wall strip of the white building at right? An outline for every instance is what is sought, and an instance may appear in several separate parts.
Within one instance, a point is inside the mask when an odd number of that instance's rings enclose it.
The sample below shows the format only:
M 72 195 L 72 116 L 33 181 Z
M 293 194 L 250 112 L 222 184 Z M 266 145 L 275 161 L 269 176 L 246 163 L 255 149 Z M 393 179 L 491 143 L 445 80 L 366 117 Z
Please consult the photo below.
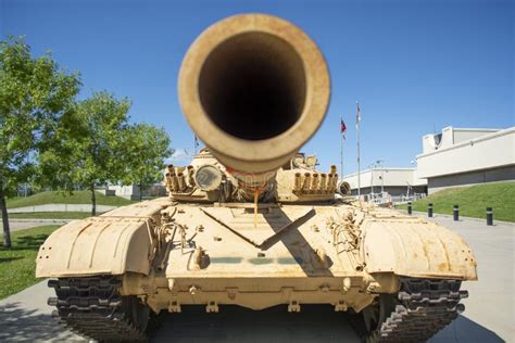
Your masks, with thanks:
M 515 165 L 434 177 L 428 179 L 427 186 L 428 192 L 431 194 L 445 188 L 466 187 L 477 183 L 506 180 L 515 180 Z

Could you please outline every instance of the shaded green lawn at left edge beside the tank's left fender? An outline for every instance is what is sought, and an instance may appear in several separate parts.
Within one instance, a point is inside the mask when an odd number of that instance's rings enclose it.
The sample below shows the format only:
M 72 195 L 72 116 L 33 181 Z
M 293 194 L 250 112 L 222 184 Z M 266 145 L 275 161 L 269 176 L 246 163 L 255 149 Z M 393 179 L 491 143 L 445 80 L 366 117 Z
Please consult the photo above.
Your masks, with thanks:
M 11 233 L 13 247 L 0 246 L 0 298 L 38 282 L 34 272 L 39 245 L 56 228 L 59 226 L 53 225 L 15 231 Z M 3 240 L 2 233 L 0 240 Z

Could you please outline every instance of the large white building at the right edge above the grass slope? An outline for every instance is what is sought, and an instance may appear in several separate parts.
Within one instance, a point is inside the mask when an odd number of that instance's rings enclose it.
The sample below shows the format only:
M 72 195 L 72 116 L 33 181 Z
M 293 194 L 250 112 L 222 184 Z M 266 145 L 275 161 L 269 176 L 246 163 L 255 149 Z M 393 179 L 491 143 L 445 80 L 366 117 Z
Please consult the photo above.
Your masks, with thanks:
M 423 137 L 417 175 L 429 193 L 476 183 L 515 180 L 515 127 L 443 128 Z

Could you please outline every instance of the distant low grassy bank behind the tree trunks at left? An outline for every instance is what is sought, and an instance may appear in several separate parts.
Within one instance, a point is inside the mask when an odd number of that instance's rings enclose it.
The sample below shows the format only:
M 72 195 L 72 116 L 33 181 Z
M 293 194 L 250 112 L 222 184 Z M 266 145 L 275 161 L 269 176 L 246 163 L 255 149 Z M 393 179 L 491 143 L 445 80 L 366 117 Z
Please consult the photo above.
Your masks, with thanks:
M 27 198 L 17 196 L 8 199 L 8 208 L 17 208 L 25 206 L 36 206 L 45 204 L 90 204 L 91 192 L 75 191 L 73 194 L 61 194 L 58 192 L 41 192 Z M 134 203 L 121 196 L 105 196 L 97 192 L 97 204 L 109 206 L 124 206 Z

